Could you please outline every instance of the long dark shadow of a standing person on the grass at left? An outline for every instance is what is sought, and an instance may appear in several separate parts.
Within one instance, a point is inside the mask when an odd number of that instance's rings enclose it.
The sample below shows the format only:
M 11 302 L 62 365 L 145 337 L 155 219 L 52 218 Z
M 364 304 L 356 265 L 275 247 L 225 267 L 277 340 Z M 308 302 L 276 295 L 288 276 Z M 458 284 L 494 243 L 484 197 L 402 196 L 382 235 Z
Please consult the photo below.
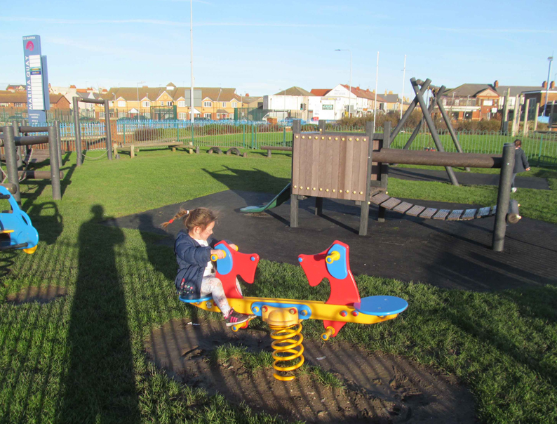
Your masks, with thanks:
M 137 423 L 140 411 L 116 227 L 103 228 L 103 208 L 79 230 L 77 276 L 67 336 L 67 373 L 62 378 L 59 423 Z

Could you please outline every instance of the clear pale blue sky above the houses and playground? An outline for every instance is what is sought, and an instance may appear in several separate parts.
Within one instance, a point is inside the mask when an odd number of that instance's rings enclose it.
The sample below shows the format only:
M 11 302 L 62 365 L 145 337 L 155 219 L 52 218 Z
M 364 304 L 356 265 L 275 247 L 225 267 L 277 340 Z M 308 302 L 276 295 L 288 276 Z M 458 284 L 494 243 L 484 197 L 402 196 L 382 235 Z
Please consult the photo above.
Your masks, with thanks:
M 539 86 L 556 50 L 547 1 L 194 0 L 196 86 L 264 95 L 348 84 L 379 92 L 429 77 Z M 189 86 L 189 0 L 6 1 L 0 89 L 24 81 L 22 36 L 39 34 L 51 84 Z M 551 79 L 557 72 L 551 71 Z

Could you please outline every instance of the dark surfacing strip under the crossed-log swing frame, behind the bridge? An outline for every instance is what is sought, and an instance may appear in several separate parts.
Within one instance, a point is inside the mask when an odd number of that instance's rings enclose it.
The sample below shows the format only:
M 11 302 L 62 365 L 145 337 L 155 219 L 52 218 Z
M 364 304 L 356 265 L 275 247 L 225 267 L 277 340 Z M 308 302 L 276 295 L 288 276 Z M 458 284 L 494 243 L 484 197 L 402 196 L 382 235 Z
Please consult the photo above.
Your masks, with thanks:
M 499 185 L 499 174 L 474 173 L 474 172 L 455 172 L 457 180 L 461 185 Z M 549 184 L 545 178 L 516 176 L 517 188 L 531 188 L 535 190 L 549 190 Z M 436 169 L 420 168 L 401 168 L 398 166 L 389 167 L 389 177 L 400 178 L 401 180 L 412 181 L 441 181 L 449 183 L 447 172 Z

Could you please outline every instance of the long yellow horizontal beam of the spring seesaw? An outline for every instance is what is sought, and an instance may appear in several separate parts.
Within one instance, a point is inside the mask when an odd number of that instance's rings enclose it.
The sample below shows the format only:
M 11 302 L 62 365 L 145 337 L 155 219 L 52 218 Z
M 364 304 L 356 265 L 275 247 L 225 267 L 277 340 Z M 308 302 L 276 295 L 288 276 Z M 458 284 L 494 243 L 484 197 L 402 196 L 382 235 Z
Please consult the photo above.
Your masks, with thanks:
M 236 312 L 241 314 L 251 314 L 253 313 L 251 307 L 253 303 L 265 303 L 265 304 L 283 304 L 285 307 L 291 307 L 295 305 L 306 306 L 311 310 L 311 315 L 309 319 L 319 319 L 323 321 L 340 321 L 340 322 L 354 322 L 356 324 L 377 324 L 378 322 L 384 322 L 389 319 L 394 319 L 398 317 L 398 314 L 384 315 L 379 317 L 377 315 L 367 315 L 358 312 L 354 307 L 346 305 L 330 305 L 325 302 L 320 302 L 316 300 L 299 300 L 299 299 L 275 299 L 275 298 L 229 298 L 228 303 L 234 308 Z M 213 300 L 206 300 L 205 302 L 192 303 L 196 307 L 209 312 L 220 312 L 220 309 L 215 305 Z M 300 317 L 302 317 L 300 315 Z

